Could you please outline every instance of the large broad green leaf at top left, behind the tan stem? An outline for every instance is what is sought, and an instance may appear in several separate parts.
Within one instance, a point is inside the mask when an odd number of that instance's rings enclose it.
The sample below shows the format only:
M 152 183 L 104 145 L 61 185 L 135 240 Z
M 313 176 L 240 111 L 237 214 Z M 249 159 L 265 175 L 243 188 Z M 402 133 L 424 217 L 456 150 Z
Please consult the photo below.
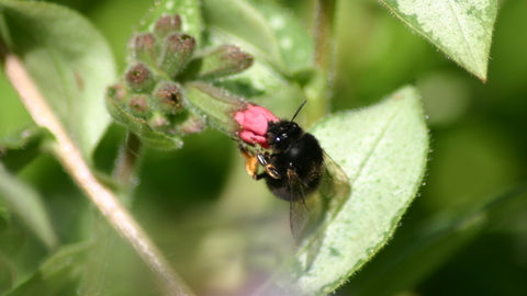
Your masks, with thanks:
M 85 159 L 110 123 L 104 89 L 115 66 L 102 35 L 82 15 L 46 2 L 0 1 L 0 31 Z

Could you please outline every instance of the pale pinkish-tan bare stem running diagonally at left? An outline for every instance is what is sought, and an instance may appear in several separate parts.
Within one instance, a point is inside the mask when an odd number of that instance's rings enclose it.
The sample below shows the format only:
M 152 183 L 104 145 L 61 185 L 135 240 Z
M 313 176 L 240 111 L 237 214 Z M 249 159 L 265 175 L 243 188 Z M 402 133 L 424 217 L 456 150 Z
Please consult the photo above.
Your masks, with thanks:
M 150 267 L 159 282 L 164 295 L 194 295 L 171 269 L 170 264 L 117 200 L 116 195 L 104 187 L 93 175 L 87 162 L 82 159 L 80 150 L 74 144 L 65 127 L 53 113 L 26 72 L 23 62 L 19 57 L 9 53 L 3 43 L 0 43 L 0 58 L 3 61 L 8 79 L 13 84 L 35 123 L 47 128 L 55 136 L 56 141 L 51 147 L 55 157 L 117 234 L 134 247 L 136 252 Z

